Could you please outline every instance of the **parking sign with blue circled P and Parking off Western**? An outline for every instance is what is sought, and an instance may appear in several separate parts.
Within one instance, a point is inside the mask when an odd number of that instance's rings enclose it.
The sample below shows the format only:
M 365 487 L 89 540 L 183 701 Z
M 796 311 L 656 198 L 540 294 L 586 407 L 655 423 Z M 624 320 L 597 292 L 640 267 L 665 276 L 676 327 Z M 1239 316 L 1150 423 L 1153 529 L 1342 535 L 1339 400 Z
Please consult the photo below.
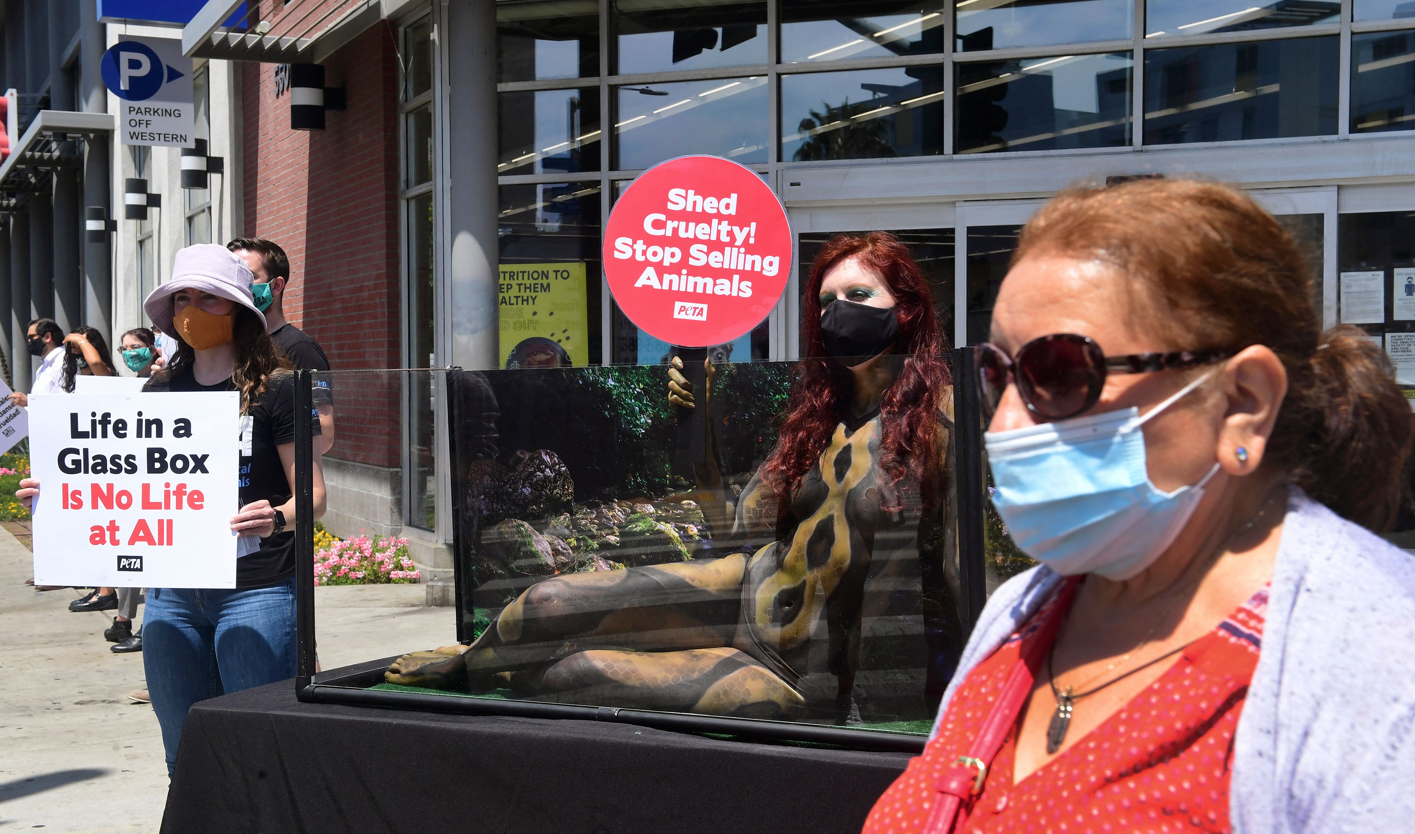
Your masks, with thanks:
M 197 147 L 192 64 L 181 38 L 123 37 L 103 52 L 99 72 L 119 98 L 122 144 Z

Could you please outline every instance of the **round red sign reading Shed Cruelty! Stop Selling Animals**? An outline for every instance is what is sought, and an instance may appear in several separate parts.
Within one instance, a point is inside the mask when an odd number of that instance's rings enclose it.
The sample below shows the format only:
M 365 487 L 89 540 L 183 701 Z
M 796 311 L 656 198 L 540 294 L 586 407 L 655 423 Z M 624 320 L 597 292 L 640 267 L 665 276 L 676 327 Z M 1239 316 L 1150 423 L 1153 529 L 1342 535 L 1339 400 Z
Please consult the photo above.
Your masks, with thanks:
M 791 273 L 791 225 L 751 168 L 679 157 L 644 171 L 604 226 L 604 277 L 620 310 L 683 348 L 727 343 L 775 307 Z

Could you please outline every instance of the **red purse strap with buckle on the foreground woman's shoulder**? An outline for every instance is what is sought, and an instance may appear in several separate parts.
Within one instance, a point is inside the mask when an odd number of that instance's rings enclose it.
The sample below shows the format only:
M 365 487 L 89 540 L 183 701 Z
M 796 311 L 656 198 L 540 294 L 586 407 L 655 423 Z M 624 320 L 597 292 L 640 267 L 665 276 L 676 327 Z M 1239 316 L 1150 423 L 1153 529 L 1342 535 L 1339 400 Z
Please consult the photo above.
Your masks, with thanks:
M 1051 643 L 1056 642 L 1061 621 L 1065 619 L 1065 612 L 1071 608 L 1071 599 L 1075 597 L 1080 581 L 1080 577 L 1065 581 L 1051 613 L 1027 643 L 1026 653 L 1017 657 L 1012 666 L 1006 683 L 998 693 L 998 700 L 993 701 L 992 711 L 978 729 L 978 738 L 974 739 L 971 748 L 974 755 L 958 756 L 938 777 L 938 783 L 934 786 L 937 796 L 932 809 L 930 809 L 928 821 L 924 823 L 923 834 L 949 834 L 968 821 L 965 803 L 971 803 L 972 797 L 982 793 L 983 782 L 988 779 L 988 768 L 998 751 L 1002 749 L 1007 731 L 1017 722 L 1017 715 L 1022 712 L 1027 695 L 1032 694 L 1037 670 L 1041 667 L 1041 660 Z

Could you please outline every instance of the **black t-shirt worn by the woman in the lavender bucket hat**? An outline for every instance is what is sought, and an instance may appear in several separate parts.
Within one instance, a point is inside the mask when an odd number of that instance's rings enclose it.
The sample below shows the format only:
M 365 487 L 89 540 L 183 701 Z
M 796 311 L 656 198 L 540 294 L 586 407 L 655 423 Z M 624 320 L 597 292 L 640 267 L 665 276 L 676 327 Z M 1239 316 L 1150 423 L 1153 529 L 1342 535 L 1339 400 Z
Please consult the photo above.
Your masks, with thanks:
M 216 384 L 201 384 L 192 376 L 191 368 L 181 375 L 168 377 L 158 373 L 147 380 L 144 392 L 233 392 L 231 379 Z M 270 377 L 250 411 L 250 447 L 241 450 L 241 506 L 265 499 L 272 506 L 290 500 L 290 482 L 284 476 L 277 445 L 294 442 L 294 377 L 289 372 Z M 314 434 L 320 433 L 320 421 L 314 420 Z M 242 425 L 245 430 L 246 427 Z M 232 507 L 232 515 L 239 507 Z M 287 526 L 294 524 L 294 516 L 286 517 Z M 294 575 L 294 530 L 277 533 L 260 540 L 260 550 L 236 560 L 236 588 L 260 588 L 283 582 Z

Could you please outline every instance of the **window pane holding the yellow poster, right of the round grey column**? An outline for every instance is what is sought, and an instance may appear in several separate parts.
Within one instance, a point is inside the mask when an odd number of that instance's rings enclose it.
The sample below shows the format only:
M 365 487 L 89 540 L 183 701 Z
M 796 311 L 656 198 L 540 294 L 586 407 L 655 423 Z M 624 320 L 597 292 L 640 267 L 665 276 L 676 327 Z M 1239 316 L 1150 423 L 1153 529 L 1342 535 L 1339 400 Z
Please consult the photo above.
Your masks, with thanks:
M 600 365 L 600 185 L 502 185 L 501 366 Z

